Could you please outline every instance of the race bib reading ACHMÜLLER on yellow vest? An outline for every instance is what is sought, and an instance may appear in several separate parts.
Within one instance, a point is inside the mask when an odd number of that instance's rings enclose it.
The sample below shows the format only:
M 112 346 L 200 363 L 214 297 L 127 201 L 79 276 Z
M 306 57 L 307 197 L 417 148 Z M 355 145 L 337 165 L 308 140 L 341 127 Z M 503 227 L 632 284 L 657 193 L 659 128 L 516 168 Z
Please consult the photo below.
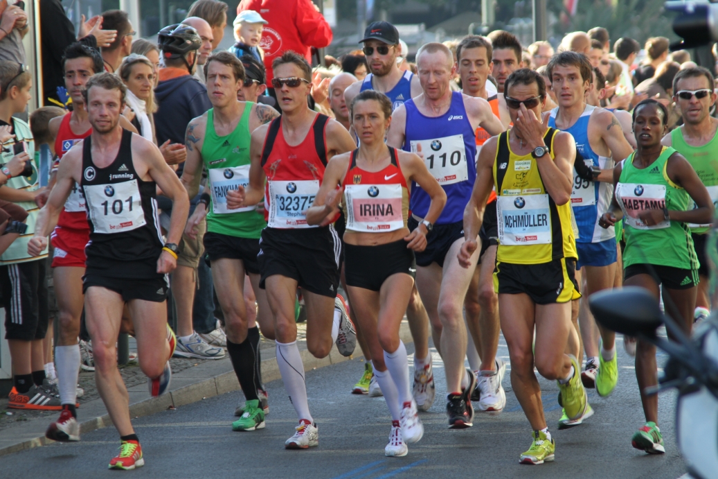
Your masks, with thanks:
M 551 243 L 549 195 L 499 196 L 496 203 L 501 245 Z

